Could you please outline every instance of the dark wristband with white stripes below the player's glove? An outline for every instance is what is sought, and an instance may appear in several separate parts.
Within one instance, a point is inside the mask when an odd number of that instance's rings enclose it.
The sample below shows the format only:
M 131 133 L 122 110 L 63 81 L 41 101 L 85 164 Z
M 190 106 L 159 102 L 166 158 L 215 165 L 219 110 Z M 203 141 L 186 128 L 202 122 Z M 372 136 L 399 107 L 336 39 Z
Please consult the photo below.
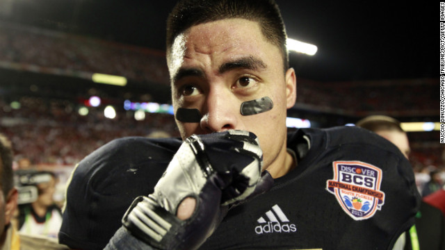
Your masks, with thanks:
M 151 197 L 137 197 L 122 218 L 122 224 L 139 240 L 158 249 L 175 249 L 175 235 L 184 234 L 184 222 L 157 205 Z

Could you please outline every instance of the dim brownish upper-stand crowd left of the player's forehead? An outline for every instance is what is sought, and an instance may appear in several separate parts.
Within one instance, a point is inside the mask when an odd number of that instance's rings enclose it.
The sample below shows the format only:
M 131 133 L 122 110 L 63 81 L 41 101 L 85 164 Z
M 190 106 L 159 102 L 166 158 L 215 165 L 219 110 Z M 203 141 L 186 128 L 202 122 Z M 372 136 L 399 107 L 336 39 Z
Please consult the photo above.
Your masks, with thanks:
M 0 62 L 168 84 L 165 53 L 160 51 L 1 22 Z

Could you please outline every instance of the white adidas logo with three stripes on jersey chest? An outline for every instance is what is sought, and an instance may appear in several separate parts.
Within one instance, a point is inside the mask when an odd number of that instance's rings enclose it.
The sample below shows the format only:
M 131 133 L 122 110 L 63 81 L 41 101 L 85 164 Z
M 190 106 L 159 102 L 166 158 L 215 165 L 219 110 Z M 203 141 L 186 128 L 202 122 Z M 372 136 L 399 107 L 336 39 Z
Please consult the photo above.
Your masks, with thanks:
M 255 233 L 292 233 L 297 231 L 296 224 L 289 223 L 286 215 L 278 205 L 272 207 L 272 210 L 266 212 L 266 219 L 259 217 L 257 222 L 260 224 L 255 226 Z

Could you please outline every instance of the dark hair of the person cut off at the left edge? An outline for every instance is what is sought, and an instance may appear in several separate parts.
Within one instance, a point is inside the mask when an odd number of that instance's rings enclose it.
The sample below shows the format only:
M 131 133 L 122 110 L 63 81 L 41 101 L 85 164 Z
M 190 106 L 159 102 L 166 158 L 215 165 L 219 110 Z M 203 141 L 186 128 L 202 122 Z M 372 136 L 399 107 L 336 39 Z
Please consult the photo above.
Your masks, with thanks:
M 14 187 L 13 149 L 6 136 L 0 133 L 0 176 L 1 190 L 6 197 Z

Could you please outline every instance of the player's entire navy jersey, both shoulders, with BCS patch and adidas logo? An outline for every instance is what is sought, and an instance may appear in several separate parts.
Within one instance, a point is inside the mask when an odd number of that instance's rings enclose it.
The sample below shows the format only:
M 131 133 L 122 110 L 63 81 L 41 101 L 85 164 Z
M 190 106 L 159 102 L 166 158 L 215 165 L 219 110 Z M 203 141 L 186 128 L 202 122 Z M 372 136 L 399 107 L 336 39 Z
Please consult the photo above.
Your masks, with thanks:
M 67 190 L 60 243 L 105 247 L 180 144 L 124 138 L 82 160 Z M 201 249 L 390 249 L 414 223 L 414 174 L 391 142 L 362 128 L 309 128 L 289 133 L 288 148 L 297 167 L 229 210 Z

